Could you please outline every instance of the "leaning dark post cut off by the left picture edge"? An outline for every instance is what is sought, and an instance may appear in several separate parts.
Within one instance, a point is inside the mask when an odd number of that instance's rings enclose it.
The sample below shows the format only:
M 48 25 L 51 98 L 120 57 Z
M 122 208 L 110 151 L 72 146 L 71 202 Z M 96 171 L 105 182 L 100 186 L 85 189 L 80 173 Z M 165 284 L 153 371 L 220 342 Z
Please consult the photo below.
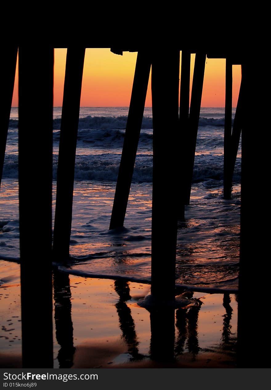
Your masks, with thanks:
M 2 51 L 2 80 L 1 94 L 3 97 L 1 103 L 1 131 L 0 131 L 0 186 L 3 174 L 5 159 L 5 146 L 7 143 L 7 130 L 9 128 L 9 117 L 11 113 L 11 103 L 14 89 L 16 62 L 18 46 L 1 48 Z

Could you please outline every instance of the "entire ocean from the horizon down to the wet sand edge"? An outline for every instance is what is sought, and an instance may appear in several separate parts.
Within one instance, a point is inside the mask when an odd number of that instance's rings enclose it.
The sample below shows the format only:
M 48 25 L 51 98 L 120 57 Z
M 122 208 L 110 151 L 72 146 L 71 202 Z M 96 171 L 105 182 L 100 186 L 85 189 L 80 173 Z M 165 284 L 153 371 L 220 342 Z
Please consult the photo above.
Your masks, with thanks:
M 145 108 L 124 228 L 109 230 L 128 107 L 81 107 L 74 176 L 71 259 L 85 277 L 151 276 L 152 109 Z M 202 288 L 238 286 L 241 149 L 232 199 L 223 199 L 224 108 L 201 108 L 185 221 L 178 223 L 176 282 Z M 234 117 L 235 109 L 233 110 Z M 53 111 L 53 218 L 61 107 Z M 43 119 L 33 112 L 36 131 Z M 171 129 L 165 128 L 165 137 Z M 35 133 L 33 133 L 35 142 Z M 39 147 L 39 145 L 37 145 Z M 29 156 L 30 196 L 37 196 Z M 177 178 L 176 178 L 177 179 Z M 167 176 L 161 177 L 167 181 Z M 12 108 L 0 192 L 0 260 L 19 261 L 18 108 Z M 29 220 L 39 229 L 39 218 Z M 41 248 L 42 250 L 42 248 Z M 38 256 L 38 254 L 37 254 Z M 0 277 L 1 278 L 1 277 Z M 1 283 L 1 282 L 0 282 Z

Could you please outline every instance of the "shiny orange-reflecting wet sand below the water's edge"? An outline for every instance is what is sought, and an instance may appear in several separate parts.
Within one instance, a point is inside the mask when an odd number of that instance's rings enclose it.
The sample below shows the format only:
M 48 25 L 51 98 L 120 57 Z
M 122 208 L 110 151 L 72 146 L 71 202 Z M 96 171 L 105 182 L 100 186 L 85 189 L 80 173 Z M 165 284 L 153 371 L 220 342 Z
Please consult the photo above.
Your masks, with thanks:
M 1 263 L 0 367 L 21 367 L 19 265 Z M 54 367 L 236 367 L 234 294 L 194 293 L 200 307 L 150 316 L 137 305 L 149 288 L 55 273 Z M 29 326 L 39 326 L 35 308 Z

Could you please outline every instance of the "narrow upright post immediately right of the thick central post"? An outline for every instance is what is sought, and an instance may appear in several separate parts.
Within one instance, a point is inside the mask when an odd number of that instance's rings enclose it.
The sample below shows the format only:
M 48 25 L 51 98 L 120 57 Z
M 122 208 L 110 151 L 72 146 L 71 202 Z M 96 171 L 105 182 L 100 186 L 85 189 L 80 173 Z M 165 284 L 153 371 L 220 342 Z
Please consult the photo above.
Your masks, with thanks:
M 187 137 L 188 137 L 188 121 L 189 121 L 189 94 L 190 94 L 190 62 L 191 54 L 188 51 L 182 50 L 182 65 L 181 65 L 181 86 L 180 86 L 180 202 L 178 209 L 178 220 L 184 220 L 184 205 L 185 205 L 185 176 L 184 169 L 186 167 L 186 152 L 187 152 Z

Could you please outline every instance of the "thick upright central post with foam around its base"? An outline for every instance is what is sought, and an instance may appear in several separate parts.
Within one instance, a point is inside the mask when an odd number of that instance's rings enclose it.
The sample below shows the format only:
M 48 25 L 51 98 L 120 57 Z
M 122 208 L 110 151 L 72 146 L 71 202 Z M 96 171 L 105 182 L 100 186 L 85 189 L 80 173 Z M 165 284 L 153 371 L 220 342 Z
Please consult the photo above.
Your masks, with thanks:
M 153 184 L 151 294 L 175 300 L 177 239 L 177 133 L 180 52 L 161 50 L 152 58 Z M 162 176 L 166 172 L 165 177 Z

